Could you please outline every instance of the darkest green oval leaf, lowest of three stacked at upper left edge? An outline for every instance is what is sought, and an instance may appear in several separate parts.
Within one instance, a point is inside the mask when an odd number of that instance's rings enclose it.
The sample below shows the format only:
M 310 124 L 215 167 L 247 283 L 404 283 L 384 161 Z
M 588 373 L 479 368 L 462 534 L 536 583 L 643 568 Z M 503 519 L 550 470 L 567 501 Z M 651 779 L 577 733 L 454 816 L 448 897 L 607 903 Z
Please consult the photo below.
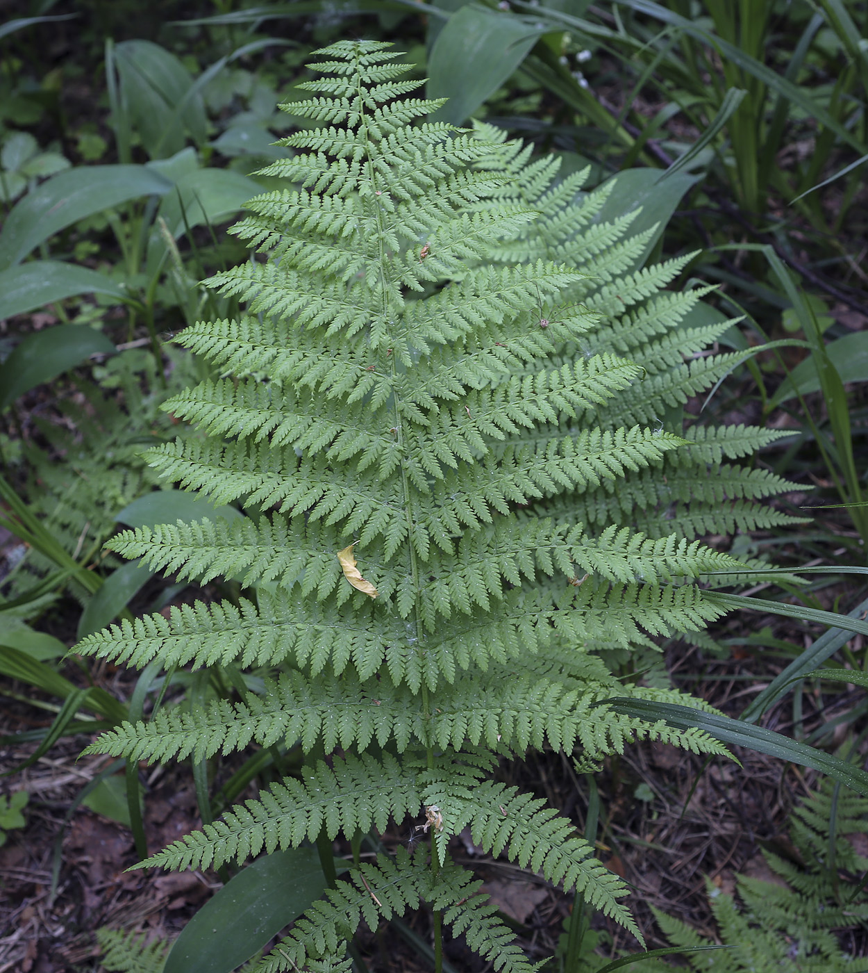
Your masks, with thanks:
M 27 335 L 0 365 L 0 409 L 36 385 L 81 365 L 90 355 L 111 355 L 116 350 L 105 335 L 82 324 L 58 324 Z

